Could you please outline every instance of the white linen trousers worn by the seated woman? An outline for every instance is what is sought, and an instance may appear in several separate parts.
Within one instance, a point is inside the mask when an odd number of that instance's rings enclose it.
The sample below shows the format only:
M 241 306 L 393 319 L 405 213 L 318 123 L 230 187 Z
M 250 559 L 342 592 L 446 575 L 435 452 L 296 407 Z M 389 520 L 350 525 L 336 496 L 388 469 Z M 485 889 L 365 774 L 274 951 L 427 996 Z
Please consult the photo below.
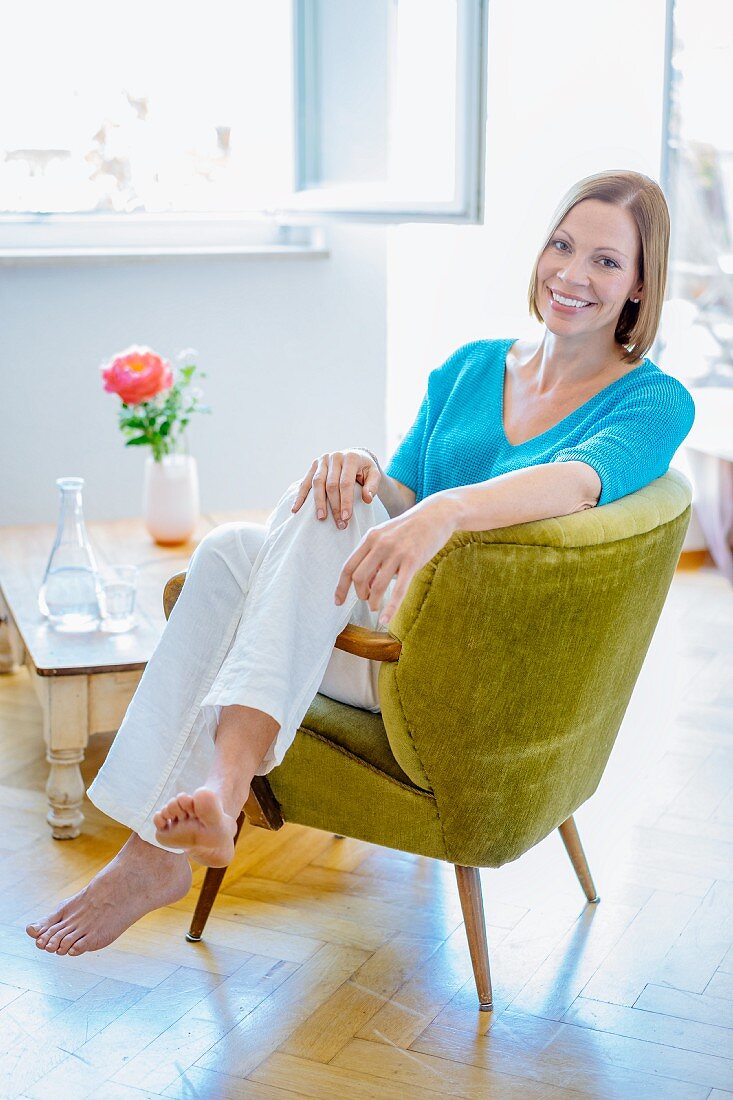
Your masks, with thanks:
M 333 649 L 348 623 L 386 630 L 378 610 L 333 593 L 364 534 L 390 518 L 379 497 L 354 486 L 348 526 L 328 507 L 317 519 L 313 491 L 291 510 L 300 482 L 283 493 L 266 522 L 215 527 L 199 542 L 186 583 L 124 714 L 89 799 L 150 844 L 152 815 L 180 791 L 201 787 L 214 760 L 221 707 L 270 714 L 280 730 L 256 774 L 282 762 L 317 692 L 379 712 L 380 662 Z M 158 845 L 160 847 L 160 845 Z M 174 849 L 175 850 L 175 849 Z

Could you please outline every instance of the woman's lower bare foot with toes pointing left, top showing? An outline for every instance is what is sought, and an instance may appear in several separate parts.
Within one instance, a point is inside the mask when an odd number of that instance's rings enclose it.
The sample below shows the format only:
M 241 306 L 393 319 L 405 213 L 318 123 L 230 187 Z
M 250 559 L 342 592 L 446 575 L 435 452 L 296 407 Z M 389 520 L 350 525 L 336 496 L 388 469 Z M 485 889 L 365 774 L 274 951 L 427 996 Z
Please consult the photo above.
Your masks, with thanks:
M 25 931 L 56 955 L 98 952 L 145 913 L 179 901 L 190 890 L 185 856 L 162 851 L 133 834 L 91 882 Z

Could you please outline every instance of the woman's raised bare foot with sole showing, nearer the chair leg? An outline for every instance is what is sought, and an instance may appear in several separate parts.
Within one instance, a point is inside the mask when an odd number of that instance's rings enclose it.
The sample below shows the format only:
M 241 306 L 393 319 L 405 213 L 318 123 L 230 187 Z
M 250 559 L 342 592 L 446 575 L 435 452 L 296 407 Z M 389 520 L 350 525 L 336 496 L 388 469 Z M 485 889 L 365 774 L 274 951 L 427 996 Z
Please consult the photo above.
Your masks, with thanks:
M 237 817 L 225 810 L 220 795 L 208 787 L 178 794 L 153 815 L 155 839 L 183 848 L 205 867 L 228 867 L 234 856 Z

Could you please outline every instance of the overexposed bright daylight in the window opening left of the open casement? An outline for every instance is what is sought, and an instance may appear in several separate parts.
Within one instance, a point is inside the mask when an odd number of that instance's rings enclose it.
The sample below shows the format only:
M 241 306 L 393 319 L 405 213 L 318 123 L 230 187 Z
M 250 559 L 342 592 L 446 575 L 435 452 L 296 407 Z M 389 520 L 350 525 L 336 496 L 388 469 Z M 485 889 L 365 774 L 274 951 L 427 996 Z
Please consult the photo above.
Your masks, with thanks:
M 291 0 L 46 0 L 12 28 L 0 212 L 228 213 L 289 190 Z

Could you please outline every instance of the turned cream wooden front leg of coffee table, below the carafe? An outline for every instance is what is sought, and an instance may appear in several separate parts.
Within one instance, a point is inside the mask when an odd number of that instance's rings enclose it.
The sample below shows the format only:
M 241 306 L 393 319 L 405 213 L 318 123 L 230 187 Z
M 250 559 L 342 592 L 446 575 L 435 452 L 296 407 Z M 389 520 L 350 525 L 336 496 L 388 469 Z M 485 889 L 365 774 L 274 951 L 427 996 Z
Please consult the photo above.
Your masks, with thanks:
M 40 676 L 46 760 L 51 765 L 46 794 L 52 836 L 73 840 L 79 835 L 84 814 L 84 781 L 79 765 L 89 739 L 88 684 L 86 675 Z

